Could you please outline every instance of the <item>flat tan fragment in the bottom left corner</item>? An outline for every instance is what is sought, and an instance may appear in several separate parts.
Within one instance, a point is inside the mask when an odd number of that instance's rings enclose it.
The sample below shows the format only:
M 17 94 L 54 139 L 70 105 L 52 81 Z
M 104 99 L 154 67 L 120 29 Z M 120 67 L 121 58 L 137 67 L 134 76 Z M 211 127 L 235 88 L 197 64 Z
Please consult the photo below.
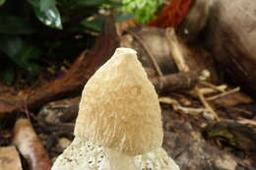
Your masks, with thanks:
M 15 146 L 0 147 L 1 170 L 23 170 L 21 158 Z

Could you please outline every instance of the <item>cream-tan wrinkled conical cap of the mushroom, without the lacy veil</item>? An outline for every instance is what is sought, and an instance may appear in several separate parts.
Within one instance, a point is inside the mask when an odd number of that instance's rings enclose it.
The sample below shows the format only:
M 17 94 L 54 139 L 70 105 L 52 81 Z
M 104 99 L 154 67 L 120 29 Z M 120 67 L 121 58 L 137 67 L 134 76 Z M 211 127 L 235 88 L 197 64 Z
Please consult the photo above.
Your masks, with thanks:
M 135 50 L 117 48 L 85 85 L 75 136 L 130 155 L 161 146 L 158 94 Z

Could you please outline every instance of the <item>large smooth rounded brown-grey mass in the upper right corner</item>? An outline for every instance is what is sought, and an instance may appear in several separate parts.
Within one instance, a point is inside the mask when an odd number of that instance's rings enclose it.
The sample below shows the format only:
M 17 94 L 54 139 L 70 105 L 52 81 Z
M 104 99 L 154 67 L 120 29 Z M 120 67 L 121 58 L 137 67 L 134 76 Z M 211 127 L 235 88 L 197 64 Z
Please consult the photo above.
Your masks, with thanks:
M 206 40 L 227 80 L 256 96 L 256 1 L 212 0 Z

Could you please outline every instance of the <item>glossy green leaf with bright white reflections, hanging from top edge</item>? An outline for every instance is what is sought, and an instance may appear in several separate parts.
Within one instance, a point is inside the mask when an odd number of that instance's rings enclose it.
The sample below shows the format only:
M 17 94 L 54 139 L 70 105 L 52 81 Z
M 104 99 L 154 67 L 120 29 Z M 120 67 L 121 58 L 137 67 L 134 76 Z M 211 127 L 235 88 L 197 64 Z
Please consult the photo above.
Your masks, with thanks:
M 36 18 L 50 28 L 62 28 L 60 13 L 54 2 L 45 0 L 29 0 Z

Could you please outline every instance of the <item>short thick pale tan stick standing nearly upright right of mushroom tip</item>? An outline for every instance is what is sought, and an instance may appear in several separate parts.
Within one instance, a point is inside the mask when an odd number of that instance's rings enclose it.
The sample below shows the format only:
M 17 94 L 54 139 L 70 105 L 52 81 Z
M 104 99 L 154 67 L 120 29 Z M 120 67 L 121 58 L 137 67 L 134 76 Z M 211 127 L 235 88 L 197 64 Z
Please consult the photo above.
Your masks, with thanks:
M 166 28 L 165 36 L 170 47 L 172 58 L 180 72 L 189 72 L 189 67 L 186 65 L 182 51 L 179 47 L 178 39 L 174 28 Z

